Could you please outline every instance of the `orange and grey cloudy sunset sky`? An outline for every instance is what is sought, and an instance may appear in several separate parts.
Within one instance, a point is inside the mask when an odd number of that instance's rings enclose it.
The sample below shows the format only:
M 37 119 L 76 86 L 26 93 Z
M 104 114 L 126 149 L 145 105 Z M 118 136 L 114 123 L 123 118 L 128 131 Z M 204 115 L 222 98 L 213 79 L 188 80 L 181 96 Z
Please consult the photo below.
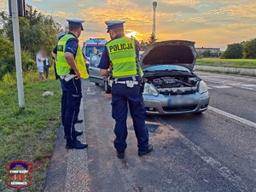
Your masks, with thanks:
M 157 0 L 157 38 L 186 39 L 196 47 L 218 47 L 256 38 L 256 0 Z M 147 40 L 152 31 L 152 0 L 26 0 L 62 26 L 83 19 L 80 42 L 108 38 L 105 20 L 126 20 L 125 33 Z M 0 0 L 0 10 L 8 0 Z

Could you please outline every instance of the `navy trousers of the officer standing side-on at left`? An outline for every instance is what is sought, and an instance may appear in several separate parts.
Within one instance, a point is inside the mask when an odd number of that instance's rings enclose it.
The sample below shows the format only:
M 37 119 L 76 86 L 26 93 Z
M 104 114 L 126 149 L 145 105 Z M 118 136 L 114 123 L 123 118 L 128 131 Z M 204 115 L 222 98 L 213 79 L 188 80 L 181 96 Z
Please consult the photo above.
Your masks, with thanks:
M 67 143 L 76 143 L 77 137 L 75 127 L 78 117 L 79 108 L 82 98 L 82 88 L 80 79 L 71 79 L 66 82 L 61 79 L 61 121 L 64 126 Z

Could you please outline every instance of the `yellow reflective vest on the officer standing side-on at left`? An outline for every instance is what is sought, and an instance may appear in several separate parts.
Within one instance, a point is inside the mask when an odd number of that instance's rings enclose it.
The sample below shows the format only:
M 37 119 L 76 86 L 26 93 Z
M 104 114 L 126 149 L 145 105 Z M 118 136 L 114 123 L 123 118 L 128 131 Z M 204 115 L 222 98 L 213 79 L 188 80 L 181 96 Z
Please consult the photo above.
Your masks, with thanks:
M 73 35 L 67 34 L 63 36 L 57 45 L 57 61 L 56 61 L 56 71 L 58 75 L 67 75 L 70 72 L 71 67 L 68 65 L 67 60 L 65 58 L 65 48 L 68 39 L 74 38 Z M 76 67 L 79 70 L 80 76 L 82 79 L 88 79 L 89 75 L 87 73 L 84 61 L 84 55 L 80 47 L 77 50 L 76 58 L 75 58 Z

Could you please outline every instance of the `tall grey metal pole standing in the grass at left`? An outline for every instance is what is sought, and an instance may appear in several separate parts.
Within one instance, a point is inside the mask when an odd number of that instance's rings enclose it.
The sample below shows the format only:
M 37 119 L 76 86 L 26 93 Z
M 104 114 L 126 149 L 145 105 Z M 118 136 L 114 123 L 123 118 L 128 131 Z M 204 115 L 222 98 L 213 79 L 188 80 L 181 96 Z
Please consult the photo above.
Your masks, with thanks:
M 12 11 L 11 13 L 12 13 L 12 20 L 13 20 L 13 32 L 14 32 L 14 43 L 15 43 L 15 66 L 16 66 L 19 106 L 20 108 L 25 108 L 21 54 L 20 54 L 20 27 L 19 27 L 18 0 L 11 0 L 11 11 Z

